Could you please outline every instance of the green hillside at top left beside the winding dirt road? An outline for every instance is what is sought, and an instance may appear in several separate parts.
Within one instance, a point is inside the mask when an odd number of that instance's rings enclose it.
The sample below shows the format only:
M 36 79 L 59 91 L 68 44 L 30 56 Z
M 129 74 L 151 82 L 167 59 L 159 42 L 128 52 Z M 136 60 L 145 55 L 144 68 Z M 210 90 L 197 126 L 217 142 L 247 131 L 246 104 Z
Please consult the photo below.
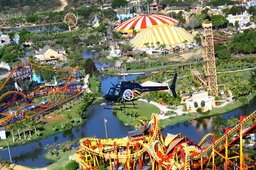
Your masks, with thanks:
M 3 9 L 4 16 L 22 15 L 27 12 L 37 13 L 53 11 L 62 6 L 59 0 L 1 0 L 0 9 Z

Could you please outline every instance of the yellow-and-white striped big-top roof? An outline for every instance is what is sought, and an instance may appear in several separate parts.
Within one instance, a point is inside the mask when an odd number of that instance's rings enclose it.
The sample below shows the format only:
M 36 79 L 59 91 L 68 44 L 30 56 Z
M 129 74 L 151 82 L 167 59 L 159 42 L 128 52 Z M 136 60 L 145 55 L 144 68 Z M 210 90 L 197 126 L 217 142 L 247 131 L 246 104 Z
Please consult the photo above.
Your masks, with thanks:
M 149 46 L 152 47 L 151 43 L 154 43 L 154 47 L 158 47 L 156 42 L 160 44 L 173 45 L 173 44 L 182 44 L 183 41 L 187 40 L 188 42 L 193 41 L 194 35 L 188 33 L 182 28 L 174 27 L 174 25 L 156 25 L 152 28 L 138 33 L 130 43 L 133 45 L 133 48 L 146 48 L 145 43 L 149 43 Z

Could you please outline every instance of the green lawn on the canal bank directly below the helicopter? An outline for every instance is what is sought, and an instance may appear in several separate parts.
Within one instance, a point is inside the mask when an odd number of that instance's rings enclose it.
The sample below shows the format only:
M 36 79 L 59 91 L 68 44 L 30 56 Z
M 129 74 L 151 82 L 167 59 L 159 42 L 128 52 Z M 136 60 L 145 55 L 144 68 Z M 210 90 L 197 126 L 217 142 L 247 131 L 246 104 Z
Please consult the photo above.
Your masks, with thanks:
M 152 113 L 160 112 L 158 107 L 154 106 L 153 104 L 148 104 L 142 101 L 135 101 L 134 103 L 137 104 L 135 105 L 135 107 L 139 108 L 139 109 L 136 109 L 137 114 L 135 115 L 135 120 L 133 118 L 133 115 L 131 115 L 131 119 L 130 119 L 129 114 L 127 115 L 127 117 L 125 117 L 125 115 L 123 116 L 123 113 L 121 113 L 121 111 L 117 111 L 118 119 L 121 120 L 123 123 L 127 123 L 129 126 L 135 127 L 135 125 L 139 122 L 139 120 L 137 120 L 139 117 L 146 117 L 148 121 L 150 121 Z

